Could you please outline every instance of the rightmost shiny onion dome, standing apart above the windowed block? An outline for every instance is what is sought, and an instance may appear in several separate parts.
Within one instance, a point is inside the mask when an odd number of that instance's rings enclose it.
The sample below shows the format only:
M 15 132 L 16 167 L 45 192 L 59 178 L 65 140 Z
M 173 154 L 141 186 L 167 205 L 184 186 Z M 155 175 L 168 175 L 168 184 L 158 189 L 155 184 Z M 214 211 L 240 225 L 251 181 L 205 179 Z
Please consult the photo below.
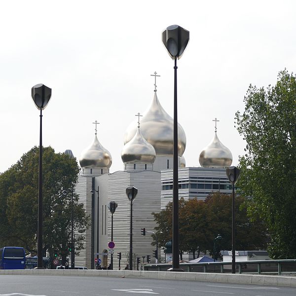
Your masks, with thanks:
M 215 132 L 212 142 L 199 155 L 201 166 L 231 166 L 232 154 L 219 140 Z

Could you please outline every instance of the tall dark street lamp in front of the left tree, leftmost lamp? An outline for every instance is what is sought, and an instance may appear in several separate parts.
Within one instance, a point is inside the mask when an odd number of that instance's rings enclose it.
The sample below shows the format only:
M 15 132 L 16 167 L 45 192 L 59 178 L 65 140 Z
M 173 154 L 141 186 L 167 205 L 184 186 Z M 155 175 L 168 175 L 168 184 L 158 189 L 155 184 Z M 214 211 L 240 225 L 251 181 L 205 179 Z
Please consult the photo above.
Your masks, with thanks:
M 43 231 L 42 231 L 42 110 L 47 106 L 51 98 L 51 88 L 45 86 L 44 84 L 36 84 L 31 89 L 31 96 L 35 103 L 35 106 L 40 110 L 40 135 L 39 135 L 39 177 L 38 177 L 38 230 L 37 230 L 37 268 L 43 269 Z

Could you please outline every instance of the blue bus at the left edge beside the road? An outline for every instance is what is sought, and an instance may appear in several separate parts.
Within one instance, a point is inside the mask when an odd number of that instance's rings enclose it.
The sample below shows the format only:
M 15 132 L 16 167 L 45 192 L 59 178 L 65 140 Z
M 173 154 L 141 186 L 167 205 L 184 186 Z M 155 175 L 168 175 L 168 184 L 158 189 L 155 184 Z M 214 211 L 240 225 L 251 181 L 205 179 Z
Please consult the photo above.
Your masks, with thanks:
M 22 247 L 4 247 L 0 249 L 0 269 L 25 269 L 25 249 Z

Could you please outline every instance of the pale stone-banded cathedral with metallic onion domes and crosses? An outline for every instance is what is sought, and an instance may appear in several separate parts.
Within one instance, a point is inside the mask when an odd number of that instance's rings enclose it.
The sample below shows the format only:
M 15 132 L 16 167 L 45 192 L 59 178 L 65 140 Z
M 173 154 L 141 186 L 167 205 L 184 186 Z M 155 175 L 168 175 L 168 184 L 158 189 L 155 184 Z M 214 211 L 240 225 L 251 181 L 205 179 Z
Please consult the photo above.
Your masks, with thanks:
M 156 73 L 154 73 L 156 78 Z M 121 269 L 129 261 L 130 206 L 126 188 L 135 186 L 138 194 L 133 201 L 133 262 L 136 258 L 151 256 L 155 246 L 150 235 L 141 235 L 141 228 L 154 231 L 156 222 L 151 213 L 159 213 L 172 200 L 173 186 L 173 118 L 162 108 L 155 81 L 152 103 L 143 116 L 138 113 L 124 135 L 121 151 L 123 170 L 110 173 L 112 158 L 97 137 L 80 155 L 81 171 L 75 192 L 91 217 L 91 225 L 85 231 L 84 249 L 75 257 L 75 265 L 95 268 L 95 258 L 107 267 L 113 254 L 113 269 L 118 269 L 117 253 L 121 253 Z M 140 117 L 141 120 L 140 120 Z M 217 121 L 216 121 L 217 123 Z M 179 195 L 185 199 L 204 199 L 212 191 L 229 193 L 230 184 L 225 175 L 231 165 L 232 155 L 217 136 L 201 153 L 202 167 L 185 167 L 183 153 L 186 136 L 178 125 Z M 111 241 L 111 201 L 118 207 L 113 214 L 114 249 L 108 248 Z M 114 253 L 112 253 L 114 252 Z M 146 260 L 145 260 L 146 262 Z M 134 264 L 133 269 L 136 269 Z

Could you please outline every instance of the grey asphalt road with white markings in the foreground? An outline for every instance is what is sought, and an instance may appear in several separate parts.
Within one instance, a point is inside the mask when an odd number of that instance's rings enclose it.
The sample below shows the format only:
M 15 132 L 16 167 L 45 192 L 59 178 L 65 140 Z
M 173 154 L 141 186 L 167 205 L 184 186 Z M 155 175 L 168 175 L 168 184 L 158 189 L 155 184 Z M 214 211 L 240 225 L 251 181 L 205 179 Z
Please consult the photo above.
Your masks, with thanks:
M 151 296 L 295 296 L 296 288 L 139 278 L 0 276 L 0 296 L 130 296 L 131 293 Z

